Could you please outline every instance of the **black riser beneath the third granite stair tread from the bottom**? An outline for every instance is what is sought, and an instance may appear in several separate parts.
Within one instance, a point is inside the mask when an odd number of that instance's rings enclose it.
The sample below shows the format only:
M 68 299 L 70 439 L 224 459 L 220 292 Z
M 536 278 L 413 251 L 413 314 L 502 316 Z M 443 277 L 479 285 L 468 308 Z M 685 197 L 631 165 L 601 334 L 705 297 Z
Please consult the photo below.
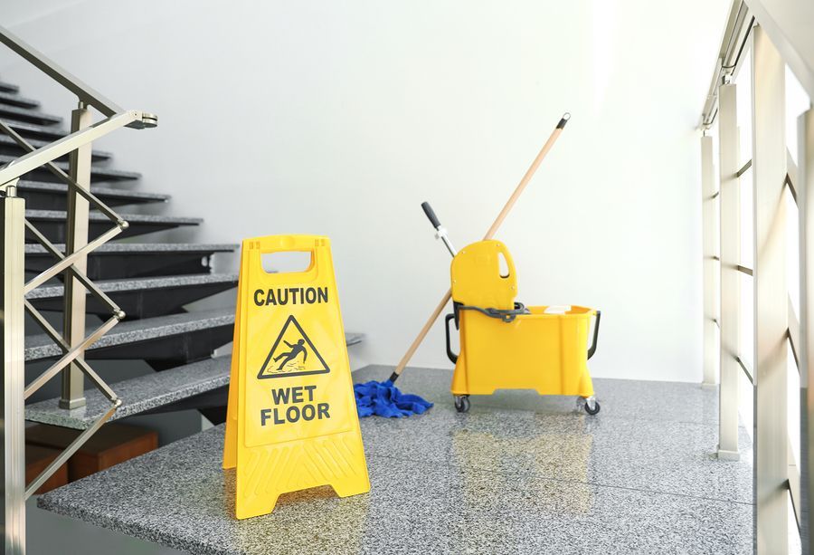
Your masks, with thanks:
M 128 315 L 128 320 L 153 318 L 184 311 L 185 304 L 200 301 L 219 292 L 228 291 L 235 283 L 204 283 L 194 287 L 162 288 L 157 290 L 111 292 L 109 296 Z M 34 308 L 41 311 L 62 311 L 62 297 L 54 299 L 34 299 Z M 95 296 L 89 295 L 86 311 L 90 314 L 107 316 L 110 309 Z

